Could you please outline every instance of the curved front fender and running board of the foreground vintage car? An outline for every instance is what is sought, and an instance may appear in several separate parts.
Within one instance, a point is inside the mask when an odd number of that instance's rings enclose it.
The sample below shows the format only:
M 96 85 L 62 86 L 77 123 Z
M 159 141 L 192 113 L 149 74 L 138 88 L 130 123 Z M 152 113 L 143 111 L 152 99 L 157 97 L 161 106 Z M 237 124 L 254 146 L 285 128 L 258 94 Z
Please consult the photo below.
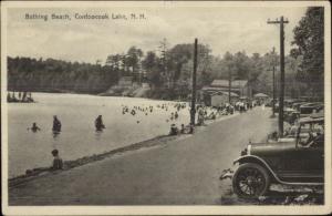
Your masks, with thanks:
M 284 184 L 284 185 L 323 185 L 323 183 L 293 183 L 293 182 L 281 181 L 278 177 L 278 175 L 276 174 L 276 172 L 273 172 L 273 169 L 269 166 L 269 164 L 263 158 L 256 156 L 256 155 L 240 156 L 234 161 L 234 165 L 237 163 L 239 163 L 239 164 L 240 163 L 258 163 L 258 164 L 262 165 L 264 168 L 267 168 L 268 172 L 270 173 L 271 177 L 280 184 Z

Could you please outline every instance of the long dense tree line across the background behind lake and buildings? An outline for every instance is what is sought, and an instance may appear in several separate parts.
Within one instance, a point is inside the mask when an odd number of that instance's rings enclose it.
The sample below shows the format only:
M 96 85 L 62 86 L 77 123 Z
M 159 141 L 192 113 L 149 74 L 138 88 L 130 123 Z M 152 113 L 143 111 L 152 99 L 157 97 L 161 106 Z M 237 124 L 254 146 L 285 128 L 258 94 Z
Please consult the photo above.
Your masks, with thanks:
M 14 91 L 100 93 L 116 84 L 121 76 L 131 75 L 136 82 L 151 84 L 152 97 L 186 97 L 191 88 L 193 59 L 193 44 L 177 44 L 165 55 L 153 51 L 144 54 L 133 47 L 126 54 L 108 55 L 105 65 L 8 58 L 8 86 Z M 249 56 L 246 52 L 214 56 L 208 45 L 199 44 L 198 89 L 209 85 L 214 79 L 228 79 L 230 72 L 232 80 L 248 80 L 255 91 L 271 93 L 271 69 L 273 61 L 278 64 L 278 59 L 271 53 Z M 294 61 L 290 56 L 287 60 Z M 287 72 L 292 74 L 293 69 Z

